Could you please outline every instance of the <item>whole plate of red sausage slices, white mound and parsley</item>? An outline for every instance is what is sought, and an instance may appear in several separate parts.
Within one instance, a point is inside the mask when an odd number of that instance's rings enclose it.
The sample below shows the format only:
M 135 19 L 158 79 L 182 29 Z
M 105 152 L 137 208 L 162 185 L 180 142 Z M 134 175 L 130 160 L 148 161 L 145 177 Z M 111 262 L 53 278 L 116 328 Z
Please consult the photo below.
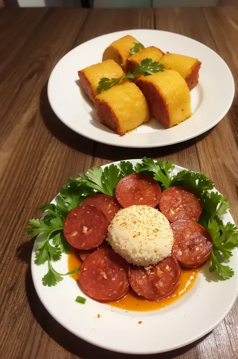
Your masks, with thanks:
M 199 172 L 150 158 L 69 178 L 29 220 L 48 312 L 105 349 L 152 354 L 215 328 L 238 293 L 229 202 Z

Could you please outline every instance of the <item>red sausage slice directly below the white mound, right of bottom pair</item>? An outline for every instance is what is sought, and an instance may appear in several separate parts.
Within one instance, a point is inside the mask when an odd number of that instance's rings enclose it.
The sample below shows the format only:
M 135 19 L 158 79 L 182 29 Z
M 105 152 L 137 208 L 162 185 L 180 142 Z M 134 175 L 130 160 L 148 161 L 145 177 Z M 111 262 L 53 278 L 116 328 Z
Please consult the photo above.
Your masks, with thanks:
M 177 259 L 169 256 L 146 271 L 144 267 L 134 266 L 129 275 L 132 289 L 142 297 L 157 300 L 170 295 L 181 277 Z

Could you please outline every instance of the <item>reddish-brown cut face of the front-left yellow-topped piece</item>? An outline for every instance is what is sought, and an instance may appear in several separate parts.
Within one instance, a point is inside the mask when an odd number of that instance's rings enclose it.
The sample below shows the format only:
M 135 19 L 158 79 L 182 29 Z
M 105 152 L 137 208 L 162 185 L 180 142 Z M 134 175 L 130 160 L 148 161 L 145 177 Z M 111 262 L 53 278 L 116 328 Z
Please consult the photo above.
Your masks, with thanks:
M 104 126 L 110 128 L 120 136 L 124 136 L 126 134 L 125 132 L 123 133 L 120 131 L 117 117 L 105 101 L 95 98 L 94 105 L 96 107 L 97 116 Z

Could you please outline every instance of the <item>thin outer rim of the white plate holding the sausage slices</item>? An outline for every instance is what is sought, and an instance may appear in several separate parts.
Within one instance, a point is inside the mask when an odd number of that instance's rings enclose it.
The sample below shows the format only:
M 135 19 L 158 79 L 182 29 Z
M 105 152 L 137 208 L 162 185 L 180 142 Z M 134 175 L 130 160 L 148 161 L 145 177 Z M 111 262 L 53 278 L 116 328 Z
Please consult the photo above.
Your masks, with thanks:
M 134 161 L 137 161 L 137 162 L 140 162 L 141 159 L 127 159 L 127 161 L 130 161 L 130 162 L 134 162 Z M 102 167 L 102 169 L 104 167 L 107 167 L 109 166 L 110 164 L 118 164 L 120 163 L 121 161 L 118 160 L 118 161 L 114 161 L 114 162 L 110 162 L 110 163 L 107 163 L 107 164 L 104 164 L 104 165 L 101 165 L 100 167 Z M 176 165 L 175 164 L 175 167 L 177 167 L 178 170 L 182 170 L 182 169 L 187 169 L 185 167 L 181 167 L 179 165 Z M 220 192 L 218 190 L 216 190 L 215 188 L 213 189 L 214 191 L 218 192 L 220 194 Z M 57 196 L 57 195 L 56 195 Z M 56 197 L 55 197 L 56 198 Z M 55 200 L 52 199 L 51 203 Z M 229 221 L 231 223 L 234 223 L 234 220 L 230 214 L 229 211 L 226 211 L 226 214 L 228 214 L 229 216 Z M 34 247 L 35 247 L 35 242 L 34 242 Z M 64 325 L 58 318 L 56 318 L 56 316 L 51 312 L 51 308 L 48 307 L 48 305 L 45 303 L 44 301 L 44 297 L 41 295 L 41 293 L 38 291 L 38 286 L 37 286 L 37 281 L 34 277 L 34 267 L 37 268 L 37 265 L 34 263 L 34 260 L 35 260 L 35 251 L 34 251 L 34 247 L 33 247 L 33 250 L 32 250 L 32 255 L 31 255 L 31 274 L 32 274 L 32 280 L 33 280 L 33 284 L 34 284 L 34 288 L 35 288 L 35 291 L 37 293 L 37 296 L 38 298 L 40 299 L 42 305 L 44 306 L 44 308 L 47 310 L 47 312 L 57 321 L 58 324 L 60 324 L 62 327 L 64 327 L 66 330 L 68 330 L 69 332 L 71 332 L 72 334 L 74 334 L 76 337 L 80 338 L 81 340 L 84 340 L 92 345 L 95 345 L 97 347 L 100 347 L 100 348 L 103 348 L 103 349 L 106 349 L 106 350 L 110 350 L 110 351 L 114 351 L 114 352 L 119 352 L 119 353 L 125 353 L 125 354 L 138 354 L 138 355 L 149 355 L 149 354 L 159 354 L 159 353 L 163 353 L 163 352 L 168 352 L 168 351 L 172 351 L 172 350 L 176 350 L 176 349 L 179 349 L 181 347 L 185 347 L 193 342 L 195 342 L 196 340 L 204 337 L 206 334 L 208 334 L 209 332 L 211 332 L 214 328 L 216 328 L 223 320 L 224 318 L 227 316 L 227 314 L 230 312 L 231 308 L 233 307 L 236 299 L 238 298 L 238 282 L 236 283 L 236 294 L 234 295 L 233 297 L 233 300 L 232 302 L 230 303 L 228 309 L 225 311 L 225 313 L 221 316 L 221 318 L 219 320 L 217 320 L 213 325 L 211 325 L 208 329 L 204 330 L 201 334 L 197 335 L 197 336 L 193 336 L 192 338 L 186 340 L 186 341 L 183 341 L 182 343 L 179 343 L 177 345 L 174 345 L 173 347 L 169 347 L 167 348 L 166 350 L 140 350 L 140 351 L 125 351 L 125 350 L 120 350 L 120 349 L 115 349 L 115 348 L 112 348 L 110 347 L 109 345 L 100 345 L 100 343 L 98 342 L 95 342 L 93 339 L 91 339 L 91 337 L 88 339 L 88 338 L 85 338 L 83 336 L 79 336 L 74 330 L 70 329 L 70 327 L 68 325 Z M 232 250 L 233 252 L 236 252 L 237 254 L 237 251 L 238 251 L 238 248 L 234 248 Z M 238 259 L 236 258 L 236 266 L 237 266 L 237 263 L 238 263 Z M 219 283 L 219 282 L 218 282 Z M 62 289 L 63 290 L 63 289 Z M 189 292 L 188 292 L 189 293 Z M 186 295 L 185 295 L 186 296 Z M 171 304 L 172 305 L 172 304 Z M 170 305 L 168 306 L 170 307 Z M 159 310 L 157 310 L 159 311 Z M 151 311 L 152 312 L 157 312 L 157 311 Z M 134 312 L 134 311 L 130 311 L 130 312 Z

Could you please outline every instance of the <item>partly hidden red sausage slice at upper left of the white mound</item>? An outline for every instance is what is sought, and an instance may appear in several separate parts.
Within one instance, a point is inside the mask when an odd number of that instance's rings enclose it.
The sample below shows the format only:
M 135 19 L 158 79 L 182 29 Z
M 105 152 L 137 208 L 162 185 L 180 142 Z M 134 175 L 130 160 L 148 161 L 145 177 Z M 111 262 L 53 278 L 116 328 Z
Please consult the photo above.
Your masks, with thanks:
M 122 209 L 120 204 L 113 197 L 102 194 L 95 194 L 85 198 L 81 205 L 99 208 L 107 217 L 108 221 L 111 221 L 116 212 Z

